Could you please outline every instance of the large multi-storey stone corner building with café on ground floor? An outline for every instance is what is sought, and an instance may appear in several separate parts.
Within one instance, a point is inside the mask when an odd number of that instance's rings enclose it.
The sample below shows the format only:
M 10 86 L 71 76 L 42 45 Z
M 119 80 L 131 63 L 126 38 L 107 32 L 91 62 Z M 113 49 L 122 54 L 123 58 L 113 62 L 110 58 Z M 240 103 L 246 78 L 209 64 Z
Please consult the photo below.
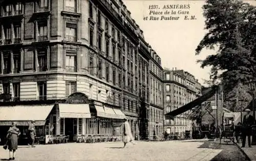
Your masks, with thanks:
M 10 96 L 4 102 L 46 104 L 82 93 L 97 114 L 88 120 L 73 120 L 74 133 L 118 131 L 111 126 L 110 115 L 98 116 L 108 108 L 129 117 L 134 136 L 142 133 L 140 98 L 149 102 L 150 52 L 139 52 L 141 30 L 122 1 L 2 0 L 0 6 L 0 94 Z M 147 44 L 146 51 L 150 50 Z M 155 66 L 160 68 L 157 61 L 154 55 Z M 160 106 L 157 87 L 154 99 L 158 101 L 153 104 Z M 160 108 L 152 111 L 158 119 L 162 116 Z M 57 126 L 54 133 L 65 134 L 65 118 L 56 117 L 50 119 Z

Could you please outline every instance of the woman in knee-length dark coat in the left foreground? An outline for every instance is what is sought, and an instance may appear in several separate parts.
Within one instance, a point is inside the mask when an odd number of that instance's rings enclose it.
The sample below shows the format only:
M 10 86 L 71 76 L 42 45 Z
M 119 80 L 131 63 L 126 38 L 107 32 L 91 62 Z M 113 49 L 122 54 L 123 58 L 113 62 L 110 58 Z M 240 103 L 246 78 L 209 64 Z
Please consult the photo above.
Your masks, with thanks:
M 16 157 L 16 150 L 18 149 L 18 136 L 20 135 L 19 129 L 16 127 L 16 123 L 12 123 L 12 127 L 9 128 L 7 134 L 7 145 L 9 149 L 9 160 L 14 160 Z

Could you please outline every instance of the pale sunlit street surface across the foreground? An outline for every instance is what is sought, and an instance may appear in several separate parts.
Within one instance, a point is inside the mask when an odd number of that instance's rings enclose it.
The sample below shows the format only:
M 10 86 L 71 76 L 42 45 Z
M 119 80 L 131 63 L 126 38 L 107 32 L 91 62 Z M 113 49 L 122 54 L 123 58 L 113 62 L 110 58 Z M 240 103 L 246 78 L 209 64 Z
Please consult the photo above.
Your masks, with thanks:
M 127 148 L 122 148 L 120 142 L 37 145 L 35 148 L 19 146 L 15 160 L 219 160 L 222 156 L 218 155 L 225 148 L 218 146 L 217 142 L 207 140 L 138 141 L 136 145 L 128 144 Z M 7 158 L 8 151 L 1 148 L 0 160 Z M 245 160 L 241 156 L 236 158 L 232 158 L 232 161 Z

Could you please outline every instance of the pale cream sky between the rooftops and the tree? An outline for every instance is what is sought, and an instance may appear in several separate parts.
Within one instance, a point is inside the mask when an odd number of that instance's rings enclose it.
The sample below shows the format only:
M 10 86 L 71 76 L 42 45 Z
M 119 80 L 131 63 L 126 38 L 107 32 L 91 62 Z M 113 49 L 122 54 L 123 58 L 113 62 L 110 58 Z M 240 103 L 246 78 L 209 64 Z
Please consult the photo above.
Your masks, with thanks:
M 198 59 L 205 59 L 207 55 L 215 54 L 215 50 L 202 50 L 199 55 L 195 54 L 197 45 L 207 33 L 204 30 L 205 18 L 203 17 L 204 1 L 141 1 L 141 0 L 124 0 L 124 4 L 131 12 L 132 18 L 136 24 L 143 30 L 144 38 L 151 47 L 156 51 L 162 60 L 162 67 L 177 70 L 184 70 L 194 75 L 198 81 L 203 84 L 203 79 L 209 80 L 210 67 L 201 68 Z M 180 16 L 178 20 L 143 20 L 149 16 L 150 5 L 158 5 L 159 10 L 164 5 L 188 5 L 189 9 L 172 9 L 176 15 Z M 169 11 L 172 11 L 169 10 Z M 194 20 L 185 20 L 184 15 L 178 15 L 178 11 L 188 11 L 187 14 L 195 15 Z M 154 16 L 154 15 L 150 15 Z M 168 15 L 169 16 L 169 15 Z M 161 17 L 161 16 L 160 16 Z M 149 18 L 149 17 L 148 17 Z

